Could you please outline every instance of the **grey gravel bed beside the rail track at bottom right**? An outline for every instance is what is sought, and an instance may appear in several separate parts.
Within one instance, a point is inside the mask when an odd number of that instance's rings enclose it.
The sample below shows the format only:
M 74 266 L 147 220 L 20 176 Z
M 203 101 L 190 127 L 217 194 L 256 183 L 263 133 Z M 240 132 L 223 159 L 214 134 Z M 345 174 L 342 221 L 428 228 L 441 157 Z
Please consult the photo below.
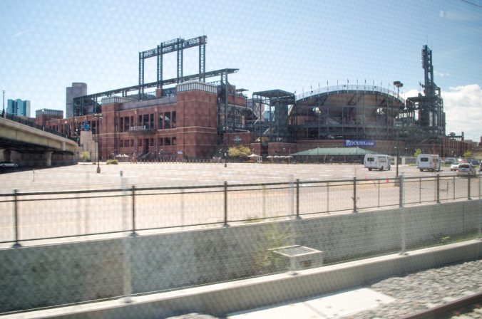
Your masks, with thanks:
M 451 302 L 482 291 L 482 260 L 392 277 L 369 286 L 395 298 L 392 303 L 349 318 L 403 318 L 421 310 Z M 482 305 L 471 313 L 453 318 L 482 318 Z

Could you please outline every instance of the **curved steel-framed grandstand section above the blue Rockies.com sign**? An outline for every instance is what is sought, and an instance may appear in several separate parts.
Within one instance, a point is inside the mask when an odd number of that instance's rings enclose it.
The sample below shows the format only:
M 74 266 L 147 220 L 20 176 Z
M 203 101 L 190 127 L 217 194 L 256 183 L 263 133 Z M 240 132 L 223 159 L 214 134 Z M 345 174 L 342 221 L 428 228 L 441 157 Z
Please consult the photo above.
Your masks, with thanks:
M 304 93 L 289 113 L 295 140 L 394 139 L 405 101 L 377 85 L 335 85 Z

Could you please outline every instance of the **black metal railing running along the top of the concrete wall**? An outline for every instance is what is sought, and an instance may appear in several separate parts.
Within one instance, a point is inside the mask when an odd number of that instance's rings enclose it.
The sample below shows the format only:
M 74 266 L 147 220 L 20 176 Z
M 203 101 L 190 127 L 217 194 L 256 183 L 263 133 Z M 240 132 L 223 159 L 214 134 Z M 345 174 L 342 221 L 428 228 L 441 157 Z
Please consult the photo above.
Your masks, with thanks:
M 309 180 L 0 194 L 0 244 L 230 226 L 410 204 L 481 199 L 480 177 Z

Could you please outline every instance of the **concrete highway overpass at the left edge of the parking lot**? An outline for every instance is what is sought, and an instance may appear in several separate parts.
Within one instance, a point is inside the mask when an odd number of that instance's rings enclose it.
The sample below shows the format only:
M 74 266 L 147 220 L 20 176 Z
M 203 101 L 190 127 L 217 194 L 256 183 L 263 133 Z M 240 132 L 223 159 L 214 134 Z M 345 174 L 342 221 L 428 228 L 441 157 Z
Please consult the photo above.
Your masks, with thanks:
M 77 148 L 65 137 L 0 117 L 0 160 L 20 166 L 75 164 Z

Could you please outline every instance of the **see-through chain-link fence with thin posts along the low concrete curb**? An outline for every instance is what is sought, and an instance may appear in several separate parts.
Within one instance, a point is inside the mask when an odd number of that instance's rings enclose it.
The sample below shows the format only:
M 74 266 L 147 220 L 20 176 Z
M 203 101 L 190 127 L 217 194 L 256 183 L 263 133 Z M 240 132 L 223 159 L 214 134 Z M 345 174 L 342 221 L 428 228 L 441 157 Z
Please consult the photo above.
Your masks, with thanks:
M 10 291 L 0 295 L 0 313 L 129 300 L 475 238 L 480 194 L 481 179 L 439 176 L 195 187 L 123 179 L 111 189 L 14 190 L 0 202 L 0 286 Z

